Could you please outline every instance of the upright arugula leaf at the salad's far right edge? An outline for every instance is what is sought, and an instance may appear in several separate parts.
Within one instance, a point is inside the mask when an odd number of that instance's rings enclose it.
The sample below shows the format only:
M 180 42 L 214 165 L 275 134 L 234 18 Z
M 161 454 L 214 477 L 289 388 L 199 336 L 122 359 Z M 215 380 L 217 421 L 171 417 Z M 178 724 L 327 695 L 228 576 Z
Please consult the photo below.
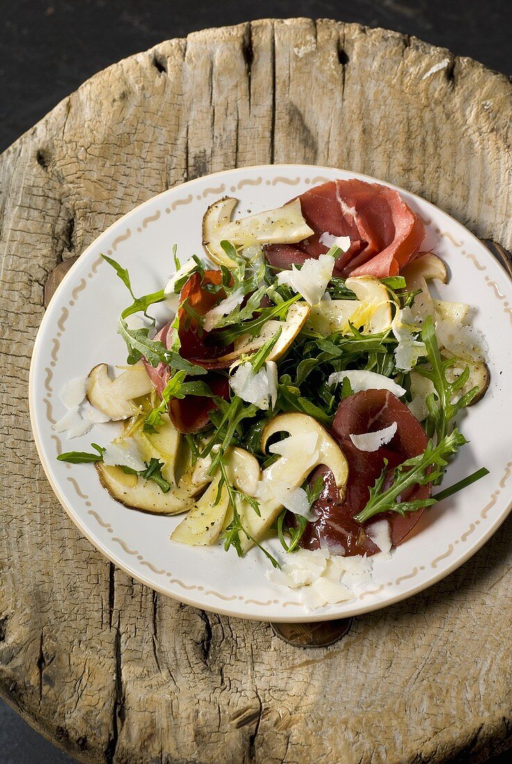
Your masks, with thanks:
M 449 432 L 452 432 L 454 426 L 452 419 L 457 416 L 460 410 L 468 406 L 478 393 L 478 386 L 472 387 L 467 393 L 458 397 L 468 381 L 469 367 L 466 366 L 459 377 L 453 382 L 449 382 L 446 372 L 449 368 L 455 366 L 459 359 L 441 358 L 436 330 L 431 316 L 428 316 L 423 323 L 421 339 L 425 343 L 429 366 L 417 364 L 414 371 L 417 371 L 422 377 L 431 380 L 436 388 L 436 395 L 430 393 L 426 399 L 426 405 L 429 408 L 429 424 L 436 430 L 438 441 L 442 441 Z

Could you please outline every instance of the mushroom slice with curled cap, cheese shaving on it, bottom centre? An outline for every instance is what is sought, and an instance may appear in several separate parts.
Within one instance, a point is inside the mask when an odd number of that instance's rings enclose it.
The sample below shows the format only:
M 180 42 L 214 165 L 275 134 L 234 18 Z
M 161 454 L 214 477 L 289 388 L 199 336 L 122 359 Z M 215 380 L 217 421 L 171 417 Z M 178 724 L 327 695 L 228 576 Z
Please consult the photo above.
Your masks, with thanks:
M 288 432 L 289 435 L 304 435 L 311 433 L 316 436 L 316 458 L 312 460 L 300 458 L 285 458 L 281 456 L 261 473 L 262 481 L 278 481 L 287 487 L 298 488 L 307 476 L 318 465 L 326 465 L 334 475 L 340 497 L 345 495 L 348 480 L 348 464 L 345 454 L 329 433 L 315 419 L 306 414 L 280 414 L 271 419 L 261 435 L 261 450 L 264 452 L 267 442 L 277 432 Z M 251 507 L 239 510 L 242 526 L 258 541 L 265 531 L 274 523 L 283 505 L 277 499 L 260 502 L 260 516 Z M 243 534 L 242 534 L 243 536 Z M 240 539 L 241 549 L 245 552 L 252 545 L 251 539 L 243 536 Z

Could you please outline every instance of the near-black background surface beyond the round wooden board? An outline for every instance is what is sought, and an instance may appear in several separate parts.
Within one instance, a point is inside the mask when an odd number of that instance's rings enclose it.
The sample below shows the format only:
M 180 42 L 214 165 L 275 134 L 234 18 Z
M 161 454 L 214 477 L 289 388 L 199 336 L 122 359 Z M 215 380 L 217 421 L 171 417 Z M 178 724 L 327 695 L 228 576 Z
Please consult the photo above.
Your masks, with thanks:
M 0 0 L 0 151 L 93 73 L 131 53 L 206 27 L 291 16 L 414 34 L 512 74 L 512 0 Z M 0 701 L 0 762 L 73 759 Z

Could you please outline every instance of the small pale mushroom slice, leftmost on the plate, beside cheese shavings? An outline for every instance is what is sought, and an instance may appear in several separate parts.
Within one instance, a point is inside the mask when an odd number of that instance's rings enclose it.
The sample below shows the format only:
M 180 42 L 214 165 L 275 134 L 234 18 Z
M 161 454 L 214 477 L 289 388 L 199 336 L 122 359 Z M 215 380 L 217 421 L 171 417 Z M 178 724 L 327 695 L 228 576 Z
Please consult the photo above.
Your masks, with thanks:
M 89 403 L 110 419 L 128 419 L 137 411 L 134 398 L 153 390 L 143 364 L 138 363 L 123 371 L 115 380 L 109 377 L 107 364 L 98 364 L 90 372 L 87 383 Z

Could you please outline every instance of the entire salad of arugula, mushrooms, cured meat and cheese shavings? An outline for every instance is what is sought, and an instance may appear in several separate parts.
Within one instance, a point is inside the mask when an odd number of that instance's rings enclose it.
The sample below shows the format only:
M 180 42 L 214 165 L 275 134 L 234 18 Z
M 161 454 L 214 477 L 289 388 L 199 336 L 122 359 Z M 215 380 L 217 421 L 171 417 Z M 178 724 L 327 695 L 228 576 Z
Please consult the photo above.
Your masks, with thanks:
M 135 296 L 103 255 L 128 292 L 127 363 L 70 380 L 54 427 L 119 430 L 58 458 L 94 465 L 129 510 L 177 515 L 171 545 L 257 547 L 280 568 L 271 581 L 321 607 L 350 599 L 373 555 L 487 474 L 439 487 L 466 443 L 462 410 L 488 389 L 484 339 L 471 306 L 440 299 L 449 270 L 394 189 L 329 181 L 233 218 L 237 201 L 206 209 L 204 251 L 174 248 L 154 293 Z

